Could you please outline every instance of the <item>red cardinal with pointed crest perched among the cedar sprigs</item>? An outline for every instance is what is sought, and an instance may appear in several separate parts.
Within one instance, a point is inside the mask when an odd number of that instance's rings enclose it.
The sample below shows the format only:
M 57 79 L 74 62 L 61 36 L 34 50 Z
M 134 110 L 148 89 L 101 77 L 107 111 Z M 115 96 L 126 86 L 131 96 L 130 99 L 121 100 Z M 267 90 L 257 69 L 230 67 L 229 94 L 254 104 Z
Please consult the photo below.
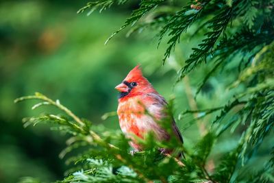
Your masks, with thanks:
M 131 139 L 129 144 L 134 151 L 142 150 L 142 146 L 136 143 L 134 135 L 144 139 L 149 132 L 153 132 L 158 141 L 168 141 L 171 136 L 176 136 L 178 141 L 183 143 L 182 135 L 173 118 L 170 123 L 172 134 L 160 127 L 159 122 L 167 117 L 165 112 L 167 103 L 164 97 L 159 95 L 149 81 L 142 76 L 140 66 L 132 69 L 125 80 L 115 88 L 120 92 L 117 109 L 119 124 L 125 136 Z M 160 148 L 160 150 L 164 154 L 172 152 L 170 149 Z

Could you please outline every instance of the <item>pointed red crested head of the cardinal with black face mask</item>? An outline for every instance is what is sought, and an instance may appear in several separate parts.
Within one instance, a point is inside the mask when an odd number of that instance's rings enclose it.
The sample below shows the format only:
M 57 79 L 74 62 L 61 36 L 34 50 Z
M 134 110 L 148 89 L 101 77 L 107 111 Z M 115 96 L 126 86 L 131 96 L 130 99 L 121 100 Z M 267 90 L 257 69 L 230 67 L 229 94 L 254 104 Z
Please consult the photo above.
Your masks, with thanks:
M 140 65 L 134 67 L 115 89 L 120 92 L 120 99 L 155 92 L 149 81 L 142 75 Z

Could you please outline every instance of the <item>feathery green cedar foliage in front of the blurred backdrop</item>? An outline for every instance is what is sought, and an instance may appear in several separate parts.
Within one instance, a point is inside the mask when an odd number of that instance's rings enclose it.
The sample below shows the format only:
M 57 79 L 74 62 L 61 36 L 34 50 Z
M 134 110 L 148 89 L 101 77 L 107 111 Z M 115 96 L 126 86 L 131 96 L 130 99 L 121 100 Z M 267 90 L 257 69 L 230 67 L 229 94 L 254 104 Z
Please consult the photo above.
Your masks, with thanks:
M 125 3 L 127 0 L 92 1 L 79 12 L 91 14 L 95 10 L 101 12 L 112 5 Z M 108 38 L 107 42 L 128 26 L 131 26 L 130 34 L 140 29 L 157 29 L 159 44 L 164 45 L 164 40 L 168 39 L 164 64 L 179 41 L 184 41 L 181 38 L 190 27 L 195 27 L 195 34 L 203 29 L 206 32 L 203 40 L 192 48 L 190 57 L 177 75 L 177 82 L 180 82 L 199 66 L 210 64 L 210 71 L 197 87 L 197 95 L 210 77 L 220 71 L 229 71 L 230 63 L 236 64 L 238 79 L 230 83 L 227 90 L 240 86 L 244 90 L 218 108 L 182 112 L 183 118 L 189 113 L 200 114 L 195 121 L 209 114 L 215 116 L 210 121 L 209 132 L 193 149 L 184 149 L 173 141 L 166 144 L 155 142 L 152 136 L 148 136 L 147 141 L 138 139 L 147 150 L 132 156 L 121 132 L 92 125 L 90 121 L 75 116 L 60 101 L 53 101 L 40 93 L 18 98 L 16 102 L 38 99 L 40 103 L 33 109 L 50 105 L 64 114 L 41 114 L 24 119 L 24 125 L 50 123 L 54 130 L 70 134 L 71 138 L 66 142 L 68 146 L 60 157 L 84 149 L 78 156 L 68 159 L 75 163 L 75 169 L 59 182 L 274 182 L 274 146 L 269 147 L 269 160 L 260 162 L 264 164 L 262 169 L 250 171 L 247 165 L 266 136 L 273 135 L 273 17 L 273 0 L 190 1 L 179 10 L 173 1 L 141 0 L 140 6 L 133 10 L 121 28 Z M 104 117 L 110 115 L 113 114 Z M 184 123 L 192 123 L 186 120 Z M 218 148 L 216 142 L 224 132 L 235 133 L 236 130 L 241 133 L 238 145 L 233 151 L 223 154 L 219 162 L 215 162 L 214 170 L 209 171 L 208 156 L 212 148 Z M 178 151 L 184 149 L 186 158 L 177 160 L 173 156 L 163 156 L 155 148 L 159 146 L 176 147 Z

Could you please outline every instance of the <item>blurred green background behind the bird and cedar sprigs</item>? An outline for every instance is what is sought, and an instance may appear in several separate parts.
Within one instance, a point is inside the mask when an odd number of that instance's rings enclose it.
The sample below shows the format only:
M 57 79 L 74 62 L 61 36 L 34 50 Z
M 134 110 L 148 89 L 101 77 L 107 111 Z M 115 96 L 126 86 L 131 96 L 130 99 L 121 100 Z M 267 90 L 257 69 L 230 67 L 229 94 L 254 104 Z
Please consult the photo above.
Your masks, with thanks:
M 61 180 L 69 169 L 65 160 L 58 158 L 66 136 L 50 131 L 45 125 L 24 129 L 21 123 L 23 117 L 56 111 L 47 107 L 33 111 L 33 103 L 14 104 L 16 97 L 37 91 L 60 99 L 79 117 L 119 130 L 117 117 L 103 121 L 101 116 L 116 110 L 118 93 L 114 86 L 136 64 L 142 65 L 145 76 L 161 95 L 167 100 L 175 97 L 175 119 L 187 108 L 223 106 L 236 92 L 225 90 L 237 77 L 237 73 L 229 73 L 236 66 L 233 62 L 230 70 L 223 71 L 229 77 L 212 78 L 197 101 L 193 101 L 192 93 L 210 64 L 173 88 L 177 70 L 201 36 L 179 44 L 174 56 L 162 66 L 166 46 L 162 44 L 156 49 L 157 39 L 153 37 L 157 30 L 129 38 L 125 38 L 125 30 L 104 45 L 138 2 L 103 14 L 77 14 L 86 2 L 0 1 L 0 182 L 17 182 L 24 176 L 45 182 Z M 183 38 L 188 36 L 191 35 Z M 209 119 L 200 122 L 206 124 Z M 177 125 L 186 147 L 197 142 L 200 136 L 197 125 L 188 127 L 184 119 L 177 119 Z M 223 147 L 214 151 L 221 154 L 235 147 L 239 136 L 227 136 L 223 138 Z M 218 158 L 218 153 L 214 158 Z

